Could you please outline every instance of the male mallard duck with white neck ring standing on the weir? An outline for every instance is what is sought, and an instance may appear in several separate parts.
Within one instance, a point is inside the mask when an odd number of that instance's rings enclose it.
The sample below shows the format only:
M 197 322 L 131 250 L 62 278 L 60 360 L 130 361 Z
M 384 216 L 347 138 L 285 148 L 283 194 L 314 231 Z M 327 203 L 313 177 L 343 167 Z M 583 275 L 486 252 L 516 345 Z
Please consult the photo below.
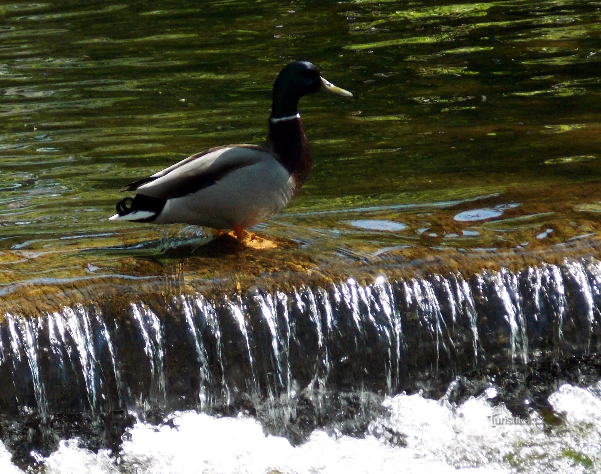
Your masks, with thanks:
M 121 191 L 137 193 L 121 199 L 109 220 L 233 229 L 242 240 L 244 229 L 281 210 L 307 179 L 311 148 L 298 102 L 317 91 L 353 96 L 326 81 L 311 62 L 286 65 L 273 84 L 264 145 L 210 148 L 127 184 Z

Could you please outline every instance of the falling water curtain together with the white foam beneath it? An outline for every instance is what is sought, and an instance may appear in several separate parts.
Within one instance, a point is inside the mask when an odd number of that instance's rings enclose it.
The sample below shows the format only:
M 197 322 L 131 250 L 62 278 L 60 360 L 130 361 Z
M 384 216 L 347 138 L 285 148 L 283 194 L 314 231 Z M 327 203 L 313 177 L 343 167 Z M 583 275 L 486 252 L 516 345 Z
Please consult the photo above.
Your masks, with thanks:
M 43 472 L 588 472 L 601 389 L 561 383 L 598 377 L 599 282 L 581 260 L 6 314 L 4 440 Z

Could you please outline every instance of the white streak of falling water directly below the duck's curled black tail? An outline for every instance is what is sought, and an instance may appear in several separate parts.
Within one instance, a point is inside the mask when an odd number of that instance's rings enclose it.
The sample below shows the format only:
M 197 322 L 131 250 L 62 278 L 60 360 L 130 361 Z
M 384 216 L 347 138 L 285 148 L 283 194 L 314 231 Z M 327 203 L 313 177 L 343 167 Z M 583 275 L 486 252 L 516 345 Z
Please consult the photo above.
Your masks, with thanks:
M 130 308 L 144 340 L 144 353 L 150 363 L 150 402 L 164 406 L 166 402 L 165 345 L 159 317 L 144 305 L 132 303 Z

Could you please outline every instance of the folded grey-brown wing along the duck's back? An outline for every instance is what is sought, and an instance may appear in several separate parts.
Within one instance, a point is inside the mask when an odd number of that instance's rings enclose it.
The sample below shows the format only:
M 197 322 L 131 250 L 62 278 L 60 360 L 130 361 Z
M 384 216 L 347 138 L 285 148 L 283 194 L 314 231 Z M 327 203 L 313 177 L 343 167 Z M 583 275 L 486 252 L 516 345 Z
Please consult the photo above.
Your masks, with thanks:
M 138 191 L 153 198 L 171 199 L 197 192 L 219 178 L 271 156 L 260 145 L 227 145 L 210 148 L 175 163 L 148 178 L 122 187 L 121 191 Z

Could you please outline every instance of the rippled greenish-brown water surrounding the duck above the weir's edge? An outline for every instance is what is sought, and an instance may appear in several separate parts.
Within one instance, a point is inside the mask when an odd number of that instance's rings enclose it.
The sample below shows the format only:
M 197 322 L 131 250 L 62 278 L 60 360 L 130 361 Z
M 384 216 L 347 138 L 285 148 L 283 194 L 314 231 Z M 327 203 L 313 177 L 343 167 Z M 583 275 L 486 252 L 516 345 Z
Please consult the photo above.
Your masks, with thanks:
M 276 252 L 286 261 L 381 266 L 596 237 L 597 2 L 154 7 L 2 4 L 7 293 L 161 273 L 178 232 L 206 232 L 107 222 L 116 191 L 195 151 L 262 142 L 273 78 L 299 57 L 356 97 L 301 102 L 311 179 L 257 229 L 301 244 Z M 227 280 L 233 266 L 198 258 L 183 272 Z

